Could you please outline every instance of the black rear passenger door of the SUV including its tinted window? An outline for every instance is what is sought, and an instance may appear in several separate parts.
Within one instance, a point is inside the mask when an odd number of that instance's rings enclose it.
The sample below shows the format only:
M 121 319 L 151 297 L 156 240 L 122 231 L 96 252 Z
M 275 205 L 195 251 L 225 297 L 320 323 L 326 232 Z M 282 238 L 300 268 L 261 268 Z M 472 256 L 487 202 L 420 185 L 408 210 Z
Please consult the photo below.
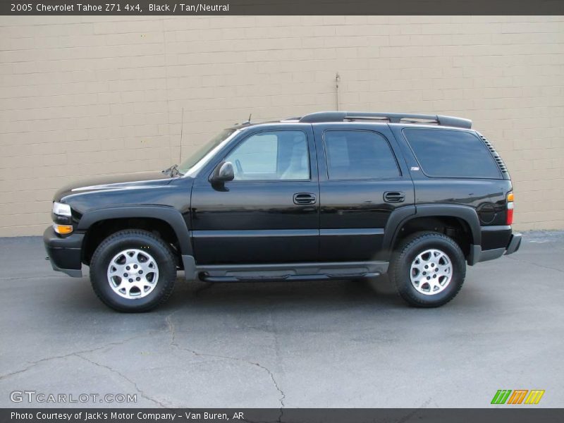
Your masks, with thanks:
M 413 182 L 386 124 L 314 124 L 322 261 L 380 259 L 392 212 L 414 204 Z

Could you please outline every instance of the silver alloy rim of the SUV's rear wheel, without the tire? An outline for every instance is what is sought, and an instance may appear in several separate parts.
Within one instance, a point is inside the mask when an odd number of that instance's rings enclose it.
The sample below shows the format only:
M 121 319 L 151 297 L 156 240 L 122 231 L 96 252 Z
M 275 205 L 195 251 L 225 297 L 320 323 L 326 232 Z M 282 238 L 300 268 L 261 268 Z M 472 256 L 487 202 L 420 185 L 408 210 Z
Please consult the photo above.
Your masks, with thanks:
M 425 250 L 411 264 L 411 283 L 417 292 L 434 295 L 445 290 L 453 278 L 453 264 L 441 250 Z

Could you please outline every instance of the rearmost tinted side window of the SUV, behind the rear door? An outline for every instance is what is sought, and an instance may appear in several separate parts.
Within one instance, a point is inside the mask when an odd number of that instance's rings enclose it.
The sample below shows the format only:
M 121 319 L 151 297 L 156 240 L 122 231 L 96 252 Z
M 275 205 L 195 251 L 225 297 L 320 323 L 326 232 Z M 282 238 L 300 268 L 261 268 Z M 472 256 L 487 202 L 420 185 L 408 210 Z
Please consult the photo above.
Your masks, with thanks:
M 404 129 L 422 171 L 435 178 L 501 178 L 498 166 L 476 135 L 458 130 Z

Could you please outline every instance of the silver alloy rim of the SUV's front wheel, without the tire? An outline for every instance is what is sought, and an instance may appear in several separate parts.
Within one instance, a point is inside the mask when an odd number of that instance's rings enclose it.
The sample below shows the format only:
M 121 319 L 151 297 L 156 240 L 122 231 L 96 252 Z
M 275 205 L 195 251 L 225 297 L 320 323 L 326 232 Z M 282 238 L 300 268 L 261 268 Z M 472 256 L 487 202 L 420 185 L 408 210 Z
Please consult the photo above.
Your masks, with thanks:
M 146 297 L 158 281 L 159 266 L 146 251 L 123 250 L 111 259 L 108 266 L 111 289 L 128 300 Z

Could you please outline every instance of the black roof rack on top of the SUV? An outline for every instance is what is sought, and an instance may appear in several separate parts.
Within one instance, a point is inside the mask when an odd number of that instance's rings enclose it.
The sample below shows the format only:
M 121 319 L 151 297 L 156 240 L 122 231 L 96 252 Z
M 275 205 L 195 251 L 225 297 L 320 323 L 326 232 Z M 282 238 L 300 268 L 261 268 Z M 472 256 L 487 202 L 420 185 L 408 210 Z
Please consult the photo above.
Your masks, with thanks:
M 455 126 L 472 128 L 472 121 L 453 116 L 380 113 L 366 111 L 318 111 L 300 118 L 303 123 L 342 122 L 342 121 L 386 121 L 389 123 L 422 123 L 427 125 Z

